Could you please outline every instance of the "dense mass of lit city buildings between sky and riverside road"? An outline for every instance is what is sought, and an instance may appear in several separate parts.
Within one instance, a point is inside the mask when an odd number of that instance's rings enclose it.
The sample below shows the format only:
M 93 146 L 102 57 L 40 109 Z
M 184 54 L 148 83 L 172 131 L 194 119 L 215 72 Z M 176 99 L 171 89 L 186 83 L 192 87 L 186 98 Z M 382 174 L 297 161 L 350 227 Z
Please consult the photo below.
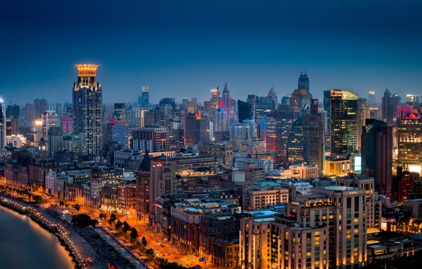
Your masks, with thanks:
M 0 98 L 7 185 L 125 214 L 214 268 L 360 268 L 422 248 L 376 239 L 422 232 L 420 96 L 319 101 L 301 72 L 285 96 L 236 101 L 224 84 L 152 103 L 142 86 L 105 104 L 98 65 L 76 68 L 72 103 Z

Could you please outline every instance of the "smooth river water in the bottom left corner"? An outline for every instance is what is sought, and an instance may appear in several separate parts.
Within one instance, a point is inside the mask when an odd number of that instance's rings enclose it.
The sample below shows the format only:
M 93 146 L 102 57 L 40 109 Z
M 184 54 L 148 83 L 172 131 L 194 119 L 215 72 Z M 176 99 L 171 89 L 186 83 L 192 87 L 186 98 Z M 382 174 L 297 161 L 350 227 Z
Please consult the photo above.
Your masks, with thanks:
M 0 268 L 74 268 L 57 237 L 29 217 L 0 206 Z

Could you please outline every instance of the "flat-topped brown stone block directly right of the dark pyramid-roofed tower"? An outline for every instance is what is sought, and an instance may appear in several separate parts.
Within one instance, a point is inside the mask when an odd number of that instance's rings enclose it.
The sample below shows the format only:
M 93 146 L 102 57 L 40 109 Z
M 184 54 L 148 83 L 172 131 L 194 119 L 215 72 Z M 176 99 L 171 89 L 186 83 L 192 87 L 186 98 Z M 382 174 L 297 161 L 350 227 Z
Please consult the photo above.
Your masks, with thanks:
M 151 159 L 151 172 L 149 177 L 149 222 L 154 223 L 155 198 L 163 197 L 170 193 L 176 193 L 176 161 L 167 156 L 159 156 Z

